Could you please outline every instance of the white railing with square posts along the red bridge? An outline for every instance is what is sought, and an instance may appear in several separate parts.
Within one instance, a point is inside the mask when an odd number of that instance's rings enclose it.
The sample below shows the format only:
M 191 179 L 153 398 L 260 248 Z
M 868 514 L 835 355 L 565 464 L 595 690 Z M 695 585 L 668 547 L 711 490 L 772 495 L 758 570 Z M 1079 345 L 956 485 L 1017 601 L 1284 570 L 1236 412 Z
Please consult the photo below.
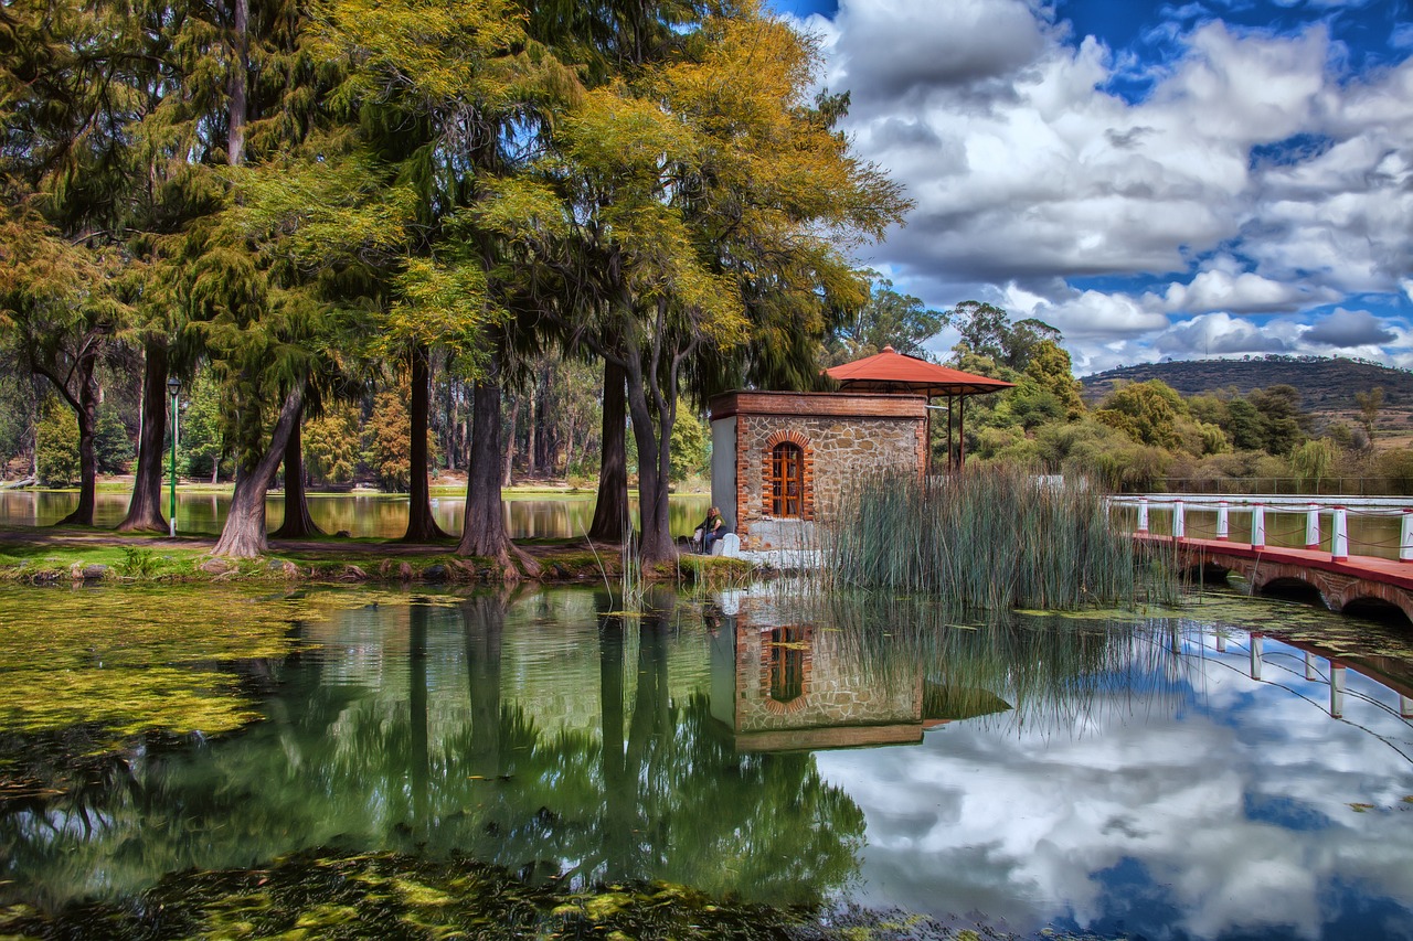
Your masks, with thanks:
M 1109 497 L 1109 514 L 1128 533 L 1413 562 L 1409 497 L 1122 495 Z

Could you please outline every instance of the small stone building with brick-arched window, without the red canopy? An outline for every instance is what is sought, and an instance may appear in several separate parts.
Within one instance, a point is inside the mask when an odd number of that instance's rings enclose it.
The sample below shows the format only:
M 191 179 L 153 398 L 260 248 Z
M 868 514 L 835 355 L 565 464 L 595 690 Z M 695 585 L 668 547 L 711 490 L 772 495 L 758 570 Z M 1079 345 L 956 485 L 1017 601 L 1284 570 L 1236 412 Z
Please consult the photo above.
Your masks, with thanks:
M 711 400 L 712 503 L 746 550 L 808 548 L 851 479 L 927 470 L 927 398 L 731 391 Z

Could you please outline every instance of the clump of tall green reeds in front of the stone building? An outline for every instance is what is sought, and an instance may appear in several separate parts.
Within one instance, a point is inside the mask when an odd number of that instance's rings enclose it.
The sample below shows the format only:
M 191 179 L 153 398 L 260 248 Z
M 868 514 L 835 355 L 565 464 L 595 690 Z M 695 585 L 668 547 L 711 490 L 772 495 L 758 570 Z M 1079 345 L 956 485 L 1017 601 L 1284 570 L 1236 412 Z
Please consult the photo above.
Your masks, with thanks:
M 824 527 L 827 586 L 926 592 L 988 609 L 1170 598 L 1169 565 L 1113 530 L 1102 495 L 1012 468 L 859 478 Z

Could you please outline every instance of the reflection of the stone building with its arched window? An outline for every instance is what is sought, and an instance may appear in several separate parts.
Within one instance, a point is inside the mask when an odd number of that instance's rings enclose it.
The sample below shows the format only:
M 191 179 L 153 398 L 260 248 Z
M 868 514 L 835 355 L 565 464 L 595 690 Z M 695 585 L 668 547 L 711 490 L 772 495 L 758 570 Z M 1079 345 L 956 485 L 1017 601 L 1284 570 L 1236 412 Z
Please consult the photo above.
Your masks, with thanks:
M 923 673 L 870 675 L 844 634 L 722 619 L 712 716 L 747 752 L 897 745 L 923 738 Z

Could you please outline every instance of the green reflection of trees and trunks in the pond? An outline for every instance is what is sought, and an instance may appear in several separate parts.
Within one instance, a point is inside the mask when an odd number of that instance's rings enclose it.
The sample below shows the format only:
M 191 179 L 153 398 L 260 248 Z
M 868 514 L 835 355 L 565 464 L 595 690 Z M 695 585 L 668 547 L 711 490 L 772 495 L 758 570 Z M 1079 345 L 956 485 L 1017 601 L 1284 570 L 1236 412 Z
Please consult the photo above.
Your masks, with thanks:
M 578 884 L 667 879 L 821 899 L 856 869 L 862 814 L 808 754 L 738 754 L 704 695 L 674 695 L 674 615 L 654 600 L 637 625 L 599 617 L 601 736 L 544 733 L 506 698 L 507 598 L 384 606 L 394 627 L 380 627 L 376 653 L 359 649 L 383 658 L 372 678 L 353 684 L 305 656 L 277 668 L 267 722 L 146 754 L 42 814 L 0 817 L 0 877 L 16 879 L 0 901 L 40 900 L 37 886 L 52 887 L 44 901 L 126 893 L 167 872 L 317 846 L 465 853 Z M 610 609 L 605 596 L 599 610 Z M 401 639 L 407 656 L 393 656 Z

